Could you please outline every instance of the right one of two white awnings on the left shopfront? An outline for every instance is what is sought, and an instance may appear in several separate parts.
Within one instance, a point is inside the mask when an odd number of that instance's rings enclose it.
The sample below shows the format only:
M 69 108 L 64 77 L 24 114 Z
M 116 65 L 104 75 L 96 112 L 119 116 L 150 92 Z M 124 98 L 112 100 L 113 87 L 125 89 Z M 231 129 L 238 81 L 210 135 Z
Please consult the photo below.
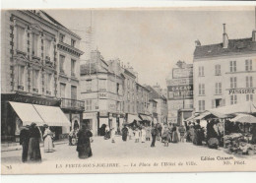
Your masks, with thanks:
M 70 121 L 59 107 L 35 104 L 33 106 L 48 126 L 71 126 Z

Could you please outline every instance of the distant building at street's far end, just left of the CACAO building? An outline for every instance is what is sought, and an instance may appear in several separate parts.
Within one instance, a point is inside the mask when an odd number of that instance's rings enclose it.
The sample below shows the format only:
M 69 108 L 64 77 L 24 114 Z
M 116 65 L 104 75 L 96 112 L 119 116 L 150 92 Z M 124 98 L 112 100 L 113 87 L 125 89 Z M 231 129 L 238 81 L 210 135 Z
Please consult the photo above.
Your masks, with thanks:
M 167 108 L 167 99 L 161 93 L 161 89 L 159 85 L 156 86 L 146 86 L 146 88 L 150 91 L 149 97 L 150 100 L 157 101 L 157 115 L 153 115 L 154 118 L 157 118 L 157 122 L 161 124 L 167 123 L 167 115 L 168 115 L 168 108 Z M 155 121 L 156 122 L 156 121 Z

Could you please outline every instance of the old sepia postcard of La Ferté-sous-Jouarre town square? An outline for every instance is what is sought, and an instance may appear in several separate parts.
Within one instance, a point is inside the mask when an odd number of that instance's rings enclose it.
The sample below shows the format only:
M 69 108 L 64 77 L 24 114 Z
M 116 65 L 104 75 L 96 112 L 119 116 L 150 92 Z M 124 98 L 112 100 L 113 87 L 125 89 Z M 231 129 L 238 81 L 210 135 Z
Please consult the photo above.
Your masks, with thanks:
M 1 11 L 1 173 L 256 171 L 254 6 Z

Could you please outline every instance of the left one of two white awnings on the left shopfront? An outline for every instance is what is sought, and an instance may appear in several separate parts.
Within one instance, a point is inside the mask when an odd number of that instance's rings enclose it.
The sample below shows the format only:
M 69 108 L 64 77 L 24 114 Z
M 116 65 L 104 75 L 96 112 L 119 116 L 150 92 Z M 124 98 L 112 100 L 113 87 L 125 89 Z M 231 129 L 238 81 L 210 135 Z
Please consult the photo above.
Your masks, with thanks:
M 32 122 L 36 123 L 37 126 L 42 126 L 45 124 L 31 103 L 21 103 L 14 101 L 9 102 L 17 115 L 23 121 L 23 126 L 31 125 Z

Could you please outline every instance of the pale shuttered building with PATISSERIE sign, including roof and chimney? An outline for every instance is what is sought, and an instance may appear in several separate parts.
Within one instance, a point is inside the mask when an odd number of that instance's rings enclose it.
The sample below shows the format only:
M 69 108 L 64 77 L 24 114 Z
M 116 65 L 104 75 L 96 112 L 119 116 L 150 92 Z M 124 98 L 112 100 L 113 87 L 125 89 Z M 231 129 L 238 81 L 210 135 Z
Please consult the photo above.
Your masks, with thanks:
M 194 52 L 195 112 L 219 106 L 256 101 L 256 30 L 252 37 L 201 45 Z

